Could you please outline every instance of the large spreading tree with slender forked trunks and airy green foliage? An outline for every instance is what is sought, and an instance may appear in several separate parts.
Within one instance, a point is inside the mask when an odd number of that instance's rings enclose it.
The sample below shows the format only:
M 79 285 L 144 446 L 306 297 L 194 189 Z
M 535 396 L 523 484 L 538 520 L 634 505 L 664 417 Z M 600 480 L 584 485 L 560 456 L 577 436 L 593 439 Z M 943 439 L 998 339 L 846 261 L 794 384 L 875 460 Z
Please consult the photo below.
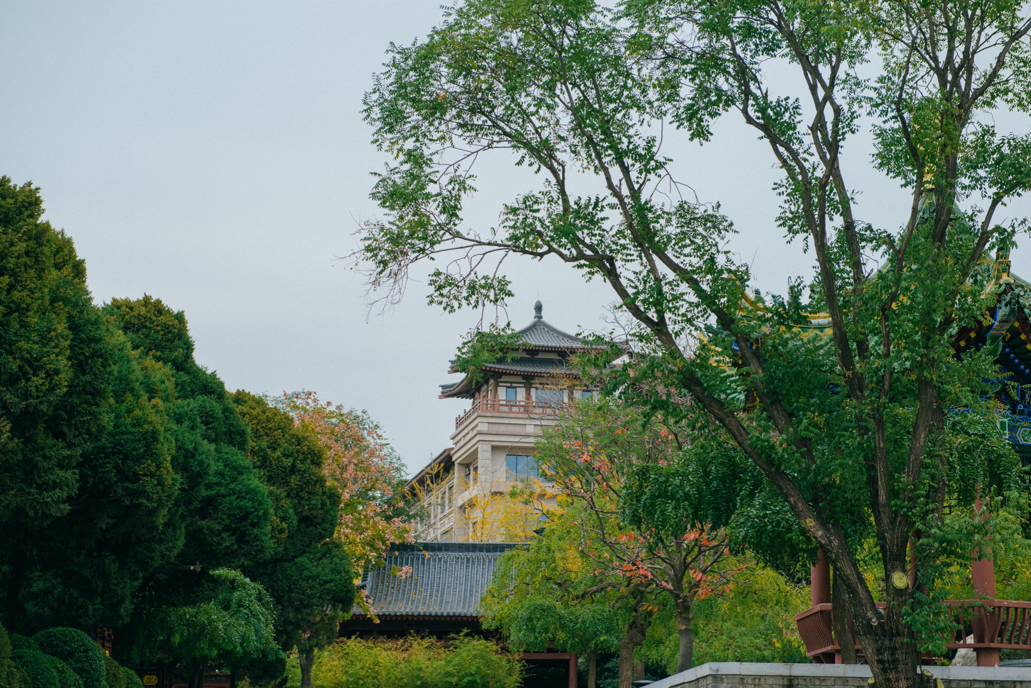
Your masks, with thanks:
M 920 651 L 940 629 L 933 584 L 945 499 L 1013 487 L 1009 471 L 986 463 L 950 472 L 945 416 L 993 414 L 982 400 L 997 374 L 993 349 L 957 357 L 953 342 L 1013 289 L 1000 277 L 1025 223 L 994 219 L 1031 184 L 1031 156 L 1028 137 L 988 125 L 992 108 L 1031 104 L 1026 7 L 621 7 L 613 20 L 589 1 L 470 0 L 426 40 L 392 46 L 365 99 L 373 140 L 395 158 L 372 193 L 386 216 L 366 224 L 359 254 L 370 284 L 397 298 L 414 264 L 450 252 L 462 260 L 430 280 L 431 302 L 448 307 L 503 302 L 509 283 L 494 259 L 509 255 L 604 280 L 637 352 L 611 391 L 667 420 L 690 398 L 720 423 L 827 553 L 876 682 L 919 685 Z M 804 102 L 764 75 L 785 60 Z M 864 80 L 856 69 L 870 60 L 879 73 Z M 797 283 L 781 296 L 746 291 L 747 266 L 725 249 L 728 219 L 677 192 L 660 132 L 675 125 L 705 140 L 728 110 L 769 143 L 784 173 L 775 222 L 816 258 L 807 298 Z M 911 192 L 897 227 L 854 212 L 843 144 L 864 111 L 875 167 Z M 514 151 L 541 182 L 506 200 L 496 227 L 469 229 L 470 168 L 493 150 Z M 987 459 L 1011 466 L 1007 452 Z M 993 485 L 993 472 L 1004 482 Z M 999 525 L 967 521 L 968 552 Z M 854 526 L 866 522 L 885 577 L 884 624 L 857 563 Z M 892 586 L 910 538 L 919 583 Z M 997 533 L 992 547 L 1005 539 Z

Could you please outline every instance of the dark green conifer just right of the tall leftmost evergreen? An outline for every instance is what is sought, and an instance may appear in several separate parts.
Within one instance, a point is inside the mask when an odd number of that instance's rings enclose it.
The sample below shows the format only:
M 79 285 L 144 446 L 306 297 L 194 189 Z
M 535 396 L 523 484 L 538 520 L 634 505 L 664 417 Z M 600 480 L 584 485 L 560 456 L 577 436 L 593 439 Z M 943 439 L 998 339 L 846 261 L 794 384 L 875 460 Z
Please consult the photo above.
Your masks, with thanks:
M 110 337 L 107 429 L 80 456 L 72 509 L 27 548 L 21 602 L 33 629 L 121 626 L 143 578 L 181 544 L 164 532 L 180 484 L 166 411 L 173 399 L 170 375 L 132 351 L 121 332 Z

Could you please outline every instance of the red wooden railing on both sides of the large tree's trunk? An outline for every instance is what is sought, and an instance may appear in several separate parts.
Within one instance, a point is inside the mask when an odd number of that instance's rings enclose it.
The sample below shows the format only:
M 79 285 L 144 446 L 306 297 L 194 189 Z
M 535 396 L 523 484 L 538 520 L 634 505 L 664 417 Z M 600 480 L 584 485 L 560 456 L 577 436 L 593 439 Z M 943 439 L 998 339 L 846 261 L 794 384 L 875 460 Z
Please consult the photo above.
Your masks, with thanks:
M 946 648 L 1031 650 L 1031 602 L 950 599 L 945 603 L 953 608 L 952 621 L 959 626 L 950 631 Z M 885 602 L 877 602 L 877 609 L 885 607 Z M 831 610 L 830 604 L 817 604 L 795 616 L 798 634 L 805 643 L 805 654 L 818 663 L 833 663 L 835 654 L 841 649 L 834 638 Z M 856 652 L 862 655 L 851 619 L 849 629 Z M 967 643 L 970 635 L 973 635 L 973 642 Z

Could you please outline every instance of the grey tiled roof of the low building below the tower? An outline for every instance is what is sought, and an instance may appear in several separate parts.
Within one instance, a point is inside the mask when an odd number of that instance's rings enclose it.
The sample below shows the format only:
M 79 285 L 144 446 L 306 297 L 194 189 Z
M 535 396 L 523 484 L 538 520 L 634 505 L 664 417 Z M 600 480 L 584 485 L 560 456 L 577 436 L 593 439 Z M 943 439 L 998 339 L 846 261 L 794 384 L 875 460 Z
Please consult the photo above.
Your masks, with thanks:
M 393 545 L 387 561 L 362 576 L 379 616 L 477 616 L 498 558 L 516 543 Z M 392 570 L 411 566 L 404 579 Z M 396 568 L 395 568 L 396 567 Z M 361 614 L 356 607 L 354 614 Z

